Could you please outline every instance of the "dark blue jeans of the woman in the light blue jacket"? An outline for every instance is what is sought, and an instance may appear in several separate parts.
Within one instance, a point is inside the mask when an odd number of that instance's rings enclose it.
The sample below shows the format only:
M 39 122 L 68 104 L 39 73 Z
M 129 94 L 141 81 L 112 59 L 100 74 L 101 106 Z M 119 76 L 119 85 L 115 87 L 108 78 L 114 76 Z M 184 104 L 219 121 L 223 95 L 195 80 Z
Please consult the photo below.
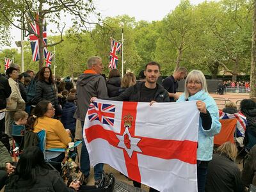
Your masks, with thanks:
M 197 188 L 198 192 L 205 191 L 205 182 L 209 161 L 197 161 Z

